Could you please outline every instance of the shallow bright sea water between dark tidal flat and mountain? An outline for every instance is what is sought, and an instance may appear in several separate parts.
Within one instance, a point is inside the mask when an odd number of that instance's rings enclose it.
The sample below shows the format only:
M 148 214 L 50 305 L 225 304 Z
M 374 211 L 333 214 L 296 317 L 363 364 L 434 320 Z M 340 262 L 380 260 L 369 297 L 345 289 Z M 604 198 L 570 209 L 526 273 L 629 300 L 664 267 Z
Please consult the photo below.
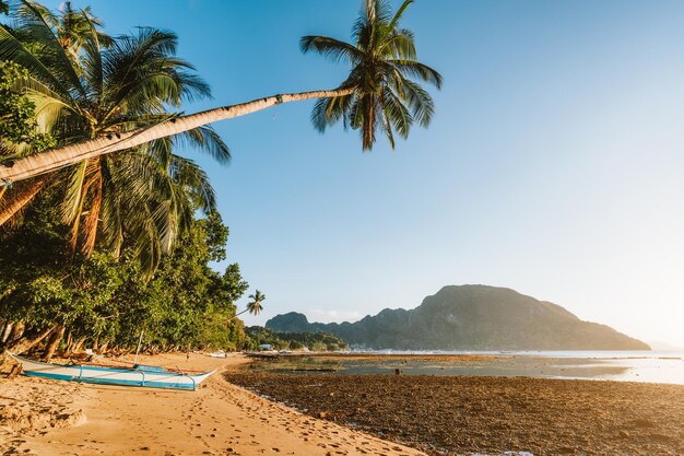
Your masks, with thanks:
M 284 358 L 257 369 L 283 373 L 529 376 L 684 385 L 684 351 L 354 351 L 364 358 Z M 459 360 L 439 355 L 473 355 Z M 387 355 L 385 358 L 384 355 Z M 405 355 L 405 358 L 402 358 Z M 421 355 L 429 356 L 422 359 Z M 437 355 L 437 356 L 435 356 Z

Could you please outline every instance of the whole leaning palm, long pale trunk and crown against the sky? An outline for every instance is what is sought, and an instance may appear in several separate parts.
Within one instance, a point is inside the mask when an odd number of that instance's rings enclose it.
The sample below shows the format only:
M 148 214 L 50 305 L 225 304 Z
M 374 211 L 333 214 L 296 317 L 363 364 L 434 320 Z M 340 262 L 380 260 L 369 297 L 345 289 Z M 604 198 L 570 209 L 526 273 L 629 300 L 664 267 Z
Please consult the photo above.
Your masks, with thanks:
M 314 124 L 319 129 L 344 118 L 352 128 L 362 130 L 365 150 L 372 148 L 377 128 L 385 131 L 393 145 L 392 130 L 405 138 L 414 120 L 426 126 L 433 114 L 432 98 L 409 78 L 414 77 L 438 87 L 441 84 L 439 73 L 416 61 L 413 34 L 399 28 L 399 21 L 411 2 L 404 1 L 397 13 L 390 15 L 386 1 L 367 0 L 366 12 L 354 26 L 355 45 L 320 36 L 303 38 L 304 51 L 314 49 L 352 63 L 349 78 L 334 90 L 279 94 L 187 116 L 157 118 L 145 126 L 117 125 L 105 135 L 99 131 L 91 139 L 16 160 L 12 167 L 0 166 L 0 180 L 26 179 L 219 120 L 311 98 L 329 100 L 319 101 L 314 110 Z M 0 28 L 0 60 L 16 61 L 24 54 L 21 43 Z M 37 66 L 27 68 L 42 71 Z

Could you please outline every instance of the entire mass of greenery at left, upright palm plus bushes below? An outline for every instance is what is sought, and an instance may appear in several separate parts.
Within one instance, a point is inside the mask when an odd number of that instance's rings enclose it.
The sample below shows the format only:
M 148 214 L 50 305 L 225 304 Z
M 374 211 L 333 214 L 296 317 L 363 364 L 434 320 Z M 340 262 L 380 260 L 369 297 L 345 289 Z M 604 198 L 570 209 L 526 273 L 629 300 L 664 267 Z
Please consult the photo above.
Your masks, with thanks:
M 3 7 L 3 12 L 8 12 Z M 175 56 L 173 33 L 107 36 L 90 9 L 12 3 L 0 25 L 0 159 L 168 119 L 210 95 Z M 0 343 L 14 351 L 148 350 L 248 343 L 225 260 L 228 230 L 205 174 L 174 153 L 185 141 L 226 163 L 209 127 L 81 162 L 0 195 Z M 28 204 L 32 202 L 31 204 Z M 204 214 L 202 217 L 201 214 Z M 4 223 L 7 221 L 7 223 Z M 162 261 L 162 258 L 164 259 Z

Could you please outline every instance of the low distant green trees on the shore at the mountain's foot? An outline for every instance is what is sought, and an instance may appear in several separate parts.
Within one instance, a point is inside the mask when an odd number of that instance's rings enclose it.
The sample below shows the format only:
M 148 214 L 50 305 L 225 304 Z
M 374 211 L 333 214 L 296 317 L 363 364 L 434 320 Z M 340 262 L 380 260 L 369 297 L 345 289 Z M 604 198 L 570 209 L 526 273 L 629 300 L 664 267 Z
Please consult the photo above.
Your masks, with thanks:
M 245 332 L 250 338 L 249 344 L 257 350 L 261 344 L 270 344 L 273 350 L 339 351 L 349 350 L 349 344 L 341 338 L 328 332 L 275 332 L 262 326 L 249 326 Z

